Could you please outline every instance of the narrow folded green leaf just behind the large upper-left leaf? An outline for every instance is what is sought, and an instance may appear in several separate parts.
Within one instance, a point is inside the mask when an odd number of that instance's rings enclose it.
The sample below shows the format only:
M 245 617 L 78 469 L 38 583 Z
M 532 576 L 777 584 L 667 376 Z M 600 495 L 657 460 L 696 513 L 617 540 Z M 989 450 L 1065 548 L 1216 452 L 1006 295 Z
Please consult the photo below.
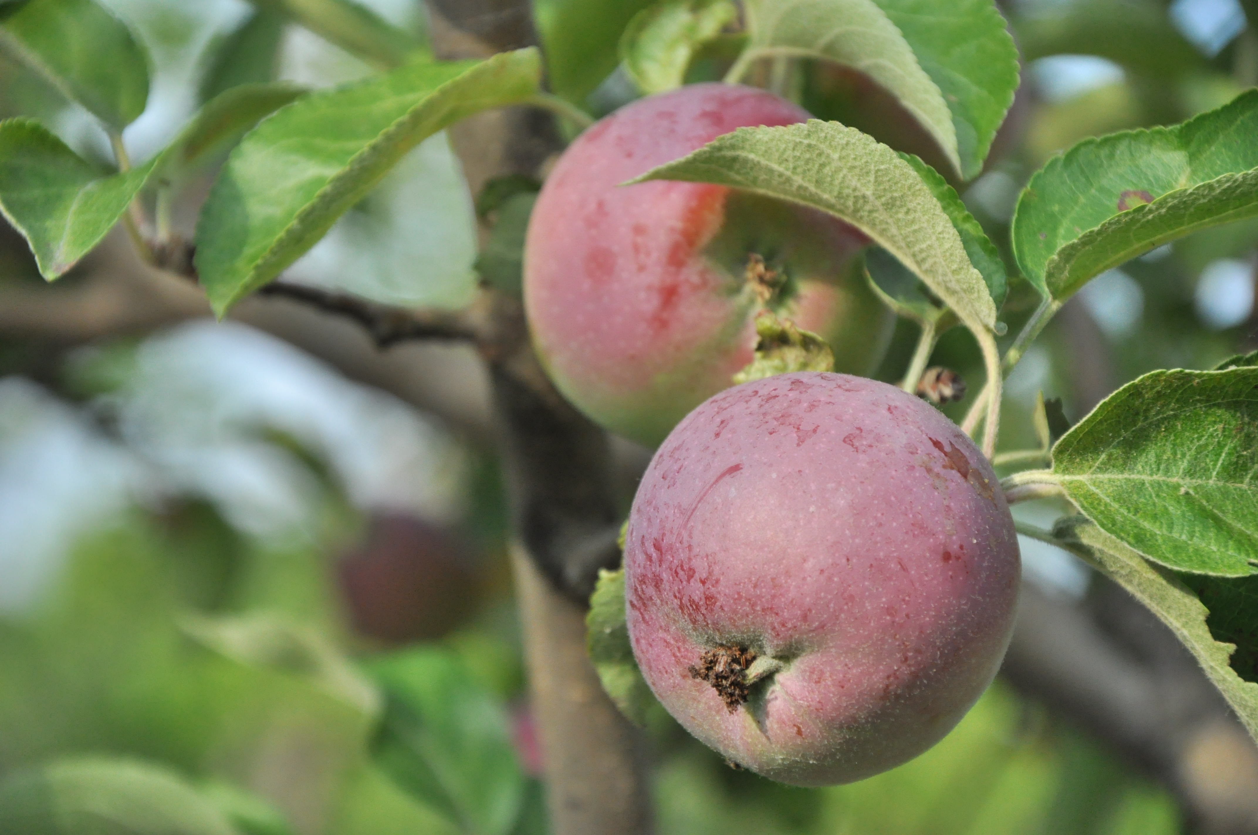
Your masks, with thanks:
M 306 91 L 284 82 L 240 84 L 205 103 L 159 155 L 153 176 L 185 179 L 231 150 L 263 118 Z

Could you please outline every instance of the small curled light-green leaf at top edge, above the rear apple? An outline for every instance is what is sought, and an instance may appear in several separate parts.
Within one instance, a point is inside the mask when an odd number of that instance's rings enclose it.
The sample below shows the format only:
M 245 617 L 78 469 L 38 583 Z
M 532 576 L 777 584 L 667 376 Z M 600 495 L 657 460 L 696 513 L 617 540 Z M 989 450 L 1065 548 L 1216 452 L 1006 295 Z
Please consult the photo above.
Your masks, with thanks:
M 620 38 L 625 72 L 645 96 L 686 83 L 694 53 L 738 16 L 728 0 L 665 0 L 638 13 Z

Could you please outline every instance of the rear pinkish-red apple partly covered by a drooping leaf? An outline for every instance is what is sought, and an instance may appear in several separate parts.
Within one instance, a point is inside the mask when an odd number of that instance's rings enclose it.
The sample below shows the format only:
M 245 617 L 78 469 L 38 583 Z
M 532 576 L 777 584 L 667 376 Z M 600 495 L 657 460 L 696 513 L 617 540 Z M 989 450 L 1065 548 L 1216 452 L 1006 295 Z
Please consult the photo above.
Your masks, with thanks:
M 625 186 L 738 127 L 809 114 L 771 93 L 692 84 L 633 102 L 564 152 L 533 206 L 525 309 L 559 390 L 648 446 L 752 360 L 755 254 L 790 277 L 779 313 L 830 342 L 837 370 L 872 373 L 893 316 L 854 255 L 868 239 L 815 210 L 722 186 Z

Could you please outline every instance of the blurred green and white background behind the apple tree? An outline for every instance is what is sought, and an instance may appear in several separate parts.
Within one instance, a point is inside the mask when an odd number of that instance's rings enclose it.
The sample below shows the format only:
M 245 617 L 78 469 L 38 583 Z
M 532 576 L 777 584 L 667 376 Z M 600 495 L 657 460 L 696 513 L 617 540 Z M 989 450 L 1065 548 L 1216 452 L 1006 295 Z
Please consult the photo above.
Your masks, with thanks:
M 102 3 L 153 62 L 148 109 L 126 135 L 137 158 L 231 84 L 326 86 L 369 72 L 243 0 Z M 420 4 L 362 3 L 423 36 Z M 596 112 L 632 88 L 590 43 L 640 5 L 537 4 L 543 43 L 566 62 L 556 83 Z M 1183 121 L 1258 83 L 1258 29 L 1235 0 L 1024 0 L 1004 11 L 1024 87 L 964 192 L 998 244 L 1018 190 L 1054 152 Z M 716 74 L 720 62 L 693 73 Z M 796 83 L 818 116 L 915 141 L 852 73 L 804 65 Z M 0 116 L 13 114 L 108 158 L 83 111 L 0 59 Z M 293 272 L 458 306 L 474 290 L 476 239 L 470 196 L 438 136 Z M 1237 224 L 1088 284 L 1010 379 L 1004 445 L 1035 445 L 1039 391 L 1077 420 L 1145 371 L 1211 367 L 1258 347 L 1255 241 L 1258 223 Z M 458 350 L 424 347 L 367 368 L 340 331 L 265 314 L 96 326 L 108 308 L 91 294 L 135 269 L 120 252 L 107 243 L 48 290 L 20 238 L 0 233 L 5 831 L 132 831 L 92 827 L 126 824 L 136 805 L 120 797 L 143 799 L 153 816 L 135 831 L 547 831 L 483 372 Z M 415 288 L 420 255 L 429 269 Z M 1010 332 L 1035 302 L 1014 284 Z M 886 379 L 915 340 L 901 323 Z M 935 363 L 981 377 L 960 329 Z M 632 489 L 643 453 L 621 454 Z M 1029 582 L 1088 596 L 1082 563 L 1024 546 Z M 649 738 L 669 835 L 1184 831 L 1164 781 L 1003 679 L 935 749 L 850 786 L 790 788 L 732 771 L 671 722 Z M 79 811 L 36 829 L 58 804 Z

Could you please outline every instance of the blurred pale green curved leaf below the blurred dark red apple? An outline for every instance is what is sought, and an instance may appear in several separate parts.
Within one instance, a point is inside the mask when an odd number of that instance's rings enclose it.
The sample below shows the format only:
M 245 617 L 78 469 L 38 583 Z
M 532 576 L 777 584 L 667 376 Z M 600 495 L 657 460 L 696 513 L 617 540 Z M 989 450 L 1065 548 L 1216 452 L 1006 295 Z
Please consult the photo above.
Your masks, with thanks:
M 190 617 L 184 631 L 242 664 L 307 679 L 364 714 L 380 711 L 375 688 L 336 648 L 308 628 L 281 617 L 249 615 Z

